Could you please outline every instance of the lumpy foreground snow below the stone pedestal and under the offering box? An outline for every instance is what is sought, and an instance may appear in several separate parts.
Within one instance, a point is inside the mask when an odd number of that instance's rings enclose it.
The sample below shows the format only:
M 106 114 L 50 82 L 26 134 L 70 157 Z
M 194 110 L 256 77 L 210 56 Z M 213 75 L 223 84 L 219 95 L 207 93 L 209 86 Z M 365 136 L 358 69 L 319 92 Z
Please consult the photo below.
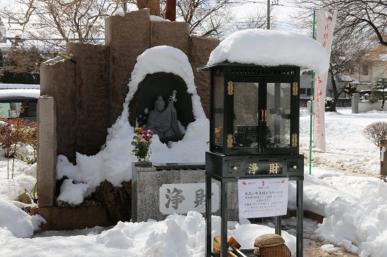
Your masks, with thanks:
M 212 237 L 220 235 L 220 217 L 212 216 Z M 205 220 L 200 213 L 186 216 L 170 215 L 165 220 L 141 223 L 118 222 L 113 228 L 98 234 L 72 237 L 34 237 L 25 241 L 0 229 L 1 256 L 130 256 L 130 257 L 203 257 L 205 256 Z M 89 230 L 86 230 L 89 231 Z M 256 237 L 274 233 L 265 225 L 229 223 L 232 235 L 242 248 L 251 249 Z M 296 252 L 296 237 L 284 231 L 282 235 L 292 253 Z M 6 242 L 6 243 L 5 243 Z M 63 245 L 66 246 L 63 252 Z

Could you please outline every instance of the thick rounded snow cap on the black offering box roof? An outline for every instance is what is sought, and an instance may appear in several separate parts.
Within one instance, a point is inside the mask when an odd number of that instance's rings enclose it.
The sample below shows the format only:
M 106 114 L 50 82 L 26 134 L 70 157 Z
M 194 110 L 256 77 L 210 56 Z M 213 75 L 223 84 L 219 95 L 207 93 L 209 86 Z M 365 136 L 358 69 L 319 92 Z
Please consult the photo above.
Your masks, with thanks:
M 212 51 L 207 65 L 239 62 L 262 66 L 296 65 L 322 73 L 329 56 L 317 41 L 302 34 L 268 29 L 234 32 Z

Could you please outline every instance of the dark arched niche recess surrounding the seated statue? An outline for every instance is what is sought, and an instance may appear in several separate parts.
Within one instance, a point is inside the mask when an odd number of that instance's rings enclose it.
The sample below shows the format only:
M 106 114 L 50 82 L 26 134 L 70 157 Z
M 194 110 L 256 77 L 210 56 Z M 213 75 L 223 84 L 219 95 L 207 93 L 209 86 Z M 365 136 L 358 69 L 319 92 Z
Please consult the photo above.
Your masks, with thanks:
M 191 95 L 187 93 L 184 80 L 172 73 L 157 72 L 147 74 L 143 81 L 139 83 L 137 92 L 129 103 L 129 124 L 133 127 L 143 127 L 148 123 L 148 113 L 155 109 L 155 102 L 161 95 L 165 101 L 165 107 L 172 96 L 172 92 L 177 91 L 174 103 L 177 120 L 186 127 L 194 121 Z M 177 141 L 181 138 L 160 138 L 160 141 L 167 143 Z

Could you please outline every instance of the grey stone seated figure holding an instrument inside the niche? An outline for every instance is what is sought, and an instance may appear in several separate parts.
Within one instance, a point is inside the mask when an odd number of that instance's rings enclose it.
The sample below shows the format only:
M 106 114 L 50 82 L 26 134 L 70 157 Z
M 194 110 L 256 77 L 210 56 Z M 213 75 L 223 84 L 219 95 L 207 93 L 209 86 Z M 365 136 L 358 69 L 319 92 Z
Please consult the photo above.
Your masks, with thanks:
M 177 91 L 174 90 L 172 98 L 165 108 L 165 101 L 161 95 L 155 102 L 155 109 L 148 114 L 148 121 L 145 126 L 146 130 L 151 130 L 157 134 L 160 139 L 177 139 L 183 138 L 182 132 L 179 130 L 179 123 L 177 121 L 177 112 L 173 103 L 175 102 Z

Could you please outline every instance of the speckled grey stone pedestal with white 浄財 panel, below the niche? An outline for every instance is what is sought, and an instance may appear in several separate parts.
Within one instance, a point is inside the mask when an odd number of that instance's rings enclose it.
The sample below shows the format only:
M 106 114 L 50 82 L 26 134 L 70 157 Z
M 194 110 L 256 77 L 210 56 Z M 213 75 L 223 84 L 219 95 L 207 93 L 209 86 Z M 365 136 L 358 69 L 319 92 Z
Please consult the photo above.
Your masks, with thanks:
M 237 183 L 228 185 L 228 220 L 239 220 Z M 212 215 L 220 216 L 220 182 L 212 180 Z M 205 164 L 132 162 L 132 221 L 205 213 Z

